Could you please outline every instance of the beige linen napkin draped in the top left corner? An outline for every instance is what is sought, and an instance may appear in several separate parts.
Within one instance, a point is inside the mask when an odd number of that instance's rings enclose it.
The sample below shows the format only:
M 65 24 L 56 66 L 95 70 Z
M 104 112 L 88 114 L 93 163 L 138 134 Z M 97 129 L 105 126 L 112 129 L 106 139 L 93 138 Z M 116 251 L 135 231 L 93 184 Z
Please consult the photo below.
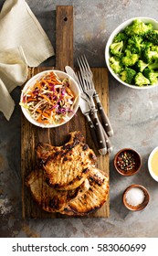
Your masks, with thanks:
M 54 55 L 43 28 L 25 0 L 6 0 L 0 13 L 0 111 L 7 120 L 15 103 L 10 96 L 26 81 L 27 66 Z

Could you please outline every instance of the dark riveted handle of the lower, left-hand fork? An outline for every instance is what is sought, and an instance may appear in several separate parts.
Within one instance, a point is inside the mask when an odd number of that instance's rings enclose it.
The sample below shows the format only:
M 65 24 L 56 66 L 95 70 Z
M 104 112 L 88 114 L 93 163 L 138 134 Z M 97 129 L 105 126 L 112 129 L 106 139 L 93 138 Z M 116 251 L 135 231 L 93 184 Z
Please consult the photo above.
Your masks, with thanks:
M 99 152 L 101 155 L 105 155 L 107 153 L 107 146 L 106 146 L 104 134 L 102 132 L 100 121 L 97 116 L 96 110 L 93 110 L 92 116 L 93 116 L 94 127 L 96 129 L 96 136 L 97 136 L 97 141 L 98 141 L 98 145 L 99 145 Z

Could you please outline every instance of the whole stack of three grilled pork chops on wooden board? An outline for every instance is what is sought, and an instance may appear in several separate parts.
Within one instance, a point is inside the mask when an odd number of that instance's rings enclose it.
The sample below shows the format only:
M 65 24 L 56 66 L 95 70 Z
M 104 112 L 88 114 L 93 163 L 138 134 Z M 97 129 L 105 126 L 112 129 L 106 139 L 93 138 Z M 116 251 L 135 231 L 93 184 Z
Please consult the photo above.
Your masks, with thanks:
M 96 155 L 80 132 L 62 146 L 38 144 L 37 169 L 26 177 L 37 204 L 47 212 L 85 216 L 109 195 L 109 180 L 95 167 Z

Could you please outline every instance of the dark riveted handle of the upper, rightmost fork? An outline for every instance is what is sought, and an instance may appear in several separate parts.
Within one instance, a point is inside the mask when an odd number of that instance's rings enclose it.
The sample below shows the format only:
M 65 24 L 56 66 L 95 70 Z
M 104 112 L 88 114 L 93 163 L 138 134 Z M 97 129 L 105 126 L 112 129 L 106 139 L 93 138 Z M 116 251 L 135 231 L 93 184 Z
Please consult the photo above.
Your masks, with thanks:
M 110 120 L 108 118 L 108 115 L 106 114 L 106 112 L 104 112 L 104 109 L 103 109 L 102 104 L 100 102 L 98 93 L 94 94 L 94 98 L 97 101 L 97 107 L 98 107 L 98 110 L 100 112 L 100 118 L 101 118 L 101 121 L 102 121 L 102 125 L 103 125 L 105 131 L 107 132 L 107 134 L 111 137 L 113 135 L 113 129 L 111 127 L 111 123 L 110 123 Z

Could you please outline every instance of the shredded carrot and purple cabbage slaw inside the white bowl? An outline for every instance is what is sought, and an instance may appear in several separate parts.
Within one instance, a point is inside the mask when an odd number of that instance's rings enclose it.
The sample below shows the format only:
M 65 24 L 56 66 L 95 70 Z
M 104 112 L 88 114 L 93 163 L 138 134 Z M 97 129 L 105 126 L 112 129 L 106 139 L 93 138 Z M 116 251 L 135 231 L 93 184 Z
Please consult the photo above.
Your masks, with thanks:
M 38 123 L 45 124 L 63 123 L 76 98 L 69 80 L 60 80 L 53 71 L 37 80 L 23 96 L 23 106 Z

